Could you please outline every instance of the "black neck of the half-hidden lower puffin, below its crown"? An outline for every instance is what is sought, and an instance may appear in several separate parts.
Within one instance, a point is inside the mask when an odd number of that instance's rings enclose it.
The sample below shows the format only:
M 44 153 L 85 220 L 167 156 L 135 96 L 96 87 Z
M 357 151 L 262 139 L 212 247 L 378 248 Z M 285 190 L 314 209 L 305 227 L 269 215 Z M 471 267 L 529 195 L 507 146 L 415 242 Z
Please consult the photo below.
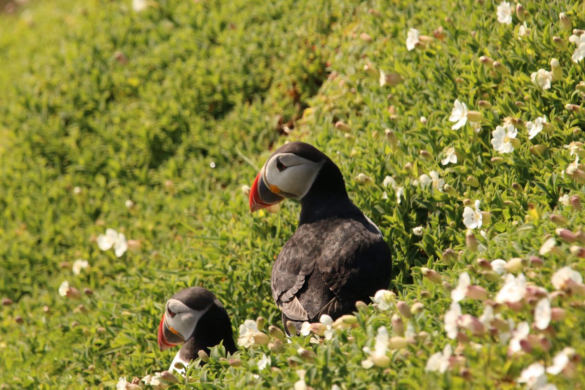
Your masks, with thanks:
M 178 352 L 178 356 L 184 361 L 195 360 L 199 357 L 199 351 L 209 354 L 210 348 L 223 341 L 223 347 L 230 354 L 238 350 L 233 342 L 232 323 L 228 313 L 222 306 L 212 305 L 197 322 L 193 334 Z

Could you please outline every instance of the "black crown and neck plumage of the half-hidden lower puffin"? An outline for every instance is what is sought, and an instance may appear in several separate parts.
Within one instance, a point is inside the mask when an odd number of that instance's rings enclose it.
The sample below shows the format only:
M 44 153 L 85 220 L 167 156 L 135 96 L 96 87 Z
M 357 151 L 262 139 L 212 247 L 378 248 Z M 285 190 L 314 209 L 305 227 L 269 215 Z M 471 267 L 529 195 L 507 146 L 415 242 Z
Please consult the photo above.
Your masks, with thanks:
M 228 312 L 211 291 L 202 287 L 190 287 L 177 292 L 172 298 L 194 310 L 204 310 L 209 307 L 207 312 L 199 318 L 191 337 L 181 346 L 179 351 L 181 358 L 185 361 L 195 360 L 200 350 L 209 354 L 210 348 L 221 341 L 229 353 L 233 354 L 238 350 L 233 341 L 232 323 Z

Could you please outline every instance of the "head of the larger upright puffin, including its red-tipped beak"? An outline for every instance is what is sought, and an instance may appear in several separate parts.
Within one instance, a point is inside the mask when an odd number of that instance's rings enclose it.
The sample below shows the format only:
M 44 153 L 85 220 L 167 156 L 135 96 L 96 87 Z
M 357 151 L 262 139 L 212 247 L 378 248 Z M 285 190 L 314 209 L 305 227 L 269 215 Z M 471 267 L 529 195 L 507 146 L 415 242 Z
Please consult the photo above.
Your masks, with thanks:
M 320 150 L 304 142 L 290 142 L 266 161 L 250 189 L 252 212 L 285 198 L 302 199 L 318 189 L 321 195 L 346 194 L 339 168 Z

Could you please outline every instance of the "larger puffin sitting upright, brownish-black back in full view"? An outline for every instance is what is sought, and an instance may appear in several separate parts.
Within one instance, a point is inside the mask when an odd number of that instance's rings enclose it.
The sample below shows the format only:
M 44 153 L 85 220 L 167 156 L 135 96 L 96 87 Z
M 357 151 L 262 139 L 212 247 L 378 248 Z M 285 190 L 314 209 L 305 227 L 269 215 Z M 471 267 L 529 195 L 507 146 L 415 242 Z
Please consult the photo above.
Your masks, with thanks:
M 392 256 L 378 227 L 349 199 L 335 163 L 304 142 L 284 144 L 250 188 L 252 212 L 297 199 L 296 232 L 273 264 L 270 286 L 284 328 L 352 313 L 390 286 Z

